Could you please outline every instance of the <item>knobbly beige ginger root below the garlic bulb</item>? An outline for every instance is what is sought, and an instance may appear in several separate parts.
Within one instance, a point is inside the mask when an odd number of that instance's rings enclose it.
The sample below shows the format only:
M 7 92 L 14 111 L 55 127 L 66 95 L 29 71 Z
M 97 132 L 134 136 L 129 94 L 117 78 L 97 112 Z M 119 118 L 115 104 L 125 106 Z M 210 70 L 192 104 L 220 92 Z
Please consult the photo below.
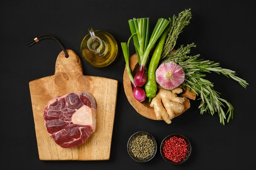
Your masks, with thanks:
M 160 88 L 150 104 L 150 107 L 154 108 L 157 120 L 162 117 L 166 123 L 170 124 L 175 114 L 181 113 L 185 109 L 183 105 L 185 99 L 177 97 L 177 94 L 181 92 L 181 88 L 174 88 L 171 91 Z

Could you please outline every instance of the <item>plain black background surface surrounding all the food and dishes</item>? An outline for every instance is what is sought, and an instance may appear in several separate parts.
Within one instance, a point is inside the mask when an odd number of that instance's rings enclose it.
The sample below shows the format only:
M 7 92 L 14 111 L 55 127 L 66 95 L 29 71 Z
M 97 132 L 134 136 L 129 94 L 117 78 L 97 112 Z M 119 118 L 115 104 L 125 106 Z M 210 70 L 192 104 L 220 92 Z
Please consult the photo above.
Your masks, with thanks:
M 256 3 L 243 1 L 7 1 L 0 6 L 0 169 L 232 169 L 256 168 L 255 54 Z M 233 104 L 234 119 L 225 126 L 218 115 L 200 115 L 199 101 L 171 125 L 146 119 L 125 97 L 122 75 L 125 62 L 120 53 L 114 65 L 93 68 L 82 60 L 84 74 L 119 82 L 111 157 L 108 161 L 40 161 L 29 94 L 29 81 L 54 74 L 61 48 L 45 40 L 31 48 L 26 42 L 40 34 L 53 34 L 66 48 L 81 57 L 80 43 L 87 28 L 105 30 L 118 42 L 130 36 L 128 19 L 150 17 L 150 27 L 159 17 L 172 17 L 192 8 L 192 20 L 177 45 L 195 42 L 192 54 L 221 62 L 247 80 L 238 82 L 223 75 L 208 74 L 221 97 Z M 131 54 L 134 48 L 130 49 Z M 192 144 L 189 159 L 180 165 L 164 161 L 159 150 L 149 162 L 139 163 L 127 153 L 129 137 L 137 131 L 151 133 L 159 146 L 172 133 L 186 136 Z

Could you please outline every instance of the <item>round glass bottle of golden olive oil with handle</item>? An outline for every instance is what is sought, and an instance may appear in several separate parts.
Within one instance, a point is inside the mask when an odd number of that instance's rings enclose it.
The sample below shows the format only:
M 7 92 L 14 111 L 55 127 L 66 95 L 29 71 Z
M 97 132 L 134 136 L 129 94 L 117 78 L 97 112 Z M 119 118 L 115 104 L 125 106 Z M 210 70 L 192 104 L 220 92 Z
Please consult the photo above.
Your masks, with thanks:
M 93 67 L 105 67 L 116 59 L 118 47 L 114 37 L 106 31 L 88 29 L 81 42 L 81 53 L 84 60 Z

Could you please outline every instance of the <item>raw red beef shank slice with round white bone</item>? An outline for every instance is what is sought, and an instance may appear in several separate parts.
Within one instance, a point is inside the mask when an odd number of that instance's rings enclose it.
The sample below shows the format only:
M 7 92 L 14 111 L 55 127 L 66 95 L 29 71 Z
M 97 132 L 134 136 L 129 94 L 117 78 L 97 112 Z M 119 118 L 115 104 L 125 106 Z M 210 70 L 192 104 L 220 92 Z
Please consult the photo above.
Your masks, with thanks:
M 52 99 L 44 108 L 44 121 L 48 133 L 58 145 L 76 147 L 95 131 L 95 99 L 81 91 Z

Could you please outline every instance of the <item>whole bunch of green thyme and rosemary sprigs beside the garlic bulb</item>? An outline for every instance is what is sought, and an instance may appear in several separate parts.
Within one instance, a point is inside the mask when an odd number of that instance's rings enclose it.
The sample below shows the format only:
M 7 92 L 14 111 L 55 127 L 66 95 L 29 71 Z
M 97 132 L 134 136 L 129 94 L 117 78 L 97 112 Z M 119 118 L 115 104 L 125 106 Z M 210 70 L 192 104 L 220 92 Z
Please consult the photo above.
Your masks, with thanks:
M 182 16 L 182 17 L 180 17 Z M 201 96 L 201 104 L 199 105 L 200 113 L 209 112 L 210 114 L 218 113 L 221 124 L 225 124 L 225 121 L 229 122 L 233 119 L 233 106 L 222 99 L 219 93 L 214 90 L 213 83 L 207 79 L 203 72 L 211 73 L 212 71 L 218 74 L 223 74 L 228 78 L 232 78 L 240 83 L 244 88 L 247 87 L 248 83 L 236 76 L 236 72 L 218 67 L 220 63 L 212 62 L 209 60 L 198 59 L 200 55 L 190 56 L 190 48 L 196 47 L 194 43 L 189 45 L 181 45 L 176 51 L 173 50 L 176 45 L 178 34 L 182 32 L 182 28 L 189 23 L 191 18 L 190 9 L 185 10 L 179 14 L 179 17 L 173 17 L 172 29 L 169 32 L 169 37 L 166 39 L 163 53 L 162 62 L 174 61 L 181 65 L 185 72 L 185 80 L 182 83 L 183 88 L 187 86 L 192 89 L 195 94 Z M 186 20 L 186 22 L 184 21 Z M 174 37 L 172 37 L 174 35 Z M 223 107 L 227 105 L 227 112 L 225 113 Z

